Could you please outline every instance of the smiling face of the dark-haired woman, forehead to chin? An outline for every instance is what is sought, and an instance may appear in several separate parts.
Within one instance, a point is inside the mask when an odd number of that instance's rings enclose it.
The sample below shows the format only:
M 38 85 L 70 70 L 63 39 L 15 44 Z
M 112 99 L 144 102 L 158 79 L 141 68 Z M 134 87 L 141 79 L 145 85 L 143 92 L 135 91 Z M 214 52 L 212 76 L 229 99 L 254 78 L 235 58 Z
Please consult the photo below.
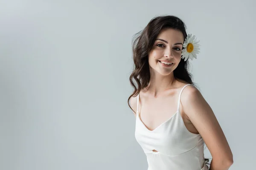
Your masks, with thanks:
M 181 59 L 181 50 L 184 37 L 181 31 L 165 28 L 157 36 L 151 51 L 148 54 L 150 71 L 161 75 L 169 75 L 177 68 Z M 167 62 L 166 64 L 161 63 Z M 172 63 L 171 65 L 167 65 Z

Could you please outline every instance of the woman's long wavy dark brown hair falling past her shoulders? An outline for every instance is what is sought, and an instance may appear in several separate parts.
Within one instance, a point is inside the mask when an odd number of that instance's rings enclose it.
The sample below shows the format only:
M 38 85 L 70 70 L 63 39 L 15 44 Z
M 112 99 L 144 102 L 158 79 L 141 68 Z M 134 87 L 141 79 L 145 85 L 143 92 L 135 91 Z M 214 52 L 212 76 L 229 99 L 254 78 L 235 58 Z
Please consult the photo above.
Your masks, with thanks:
M 158 34 L 164 28 L 174 28 L 183 33 L 184 41 L 187 37 L 186 25 L 178 17 L 173 15 L 163 15 L 154 17 L 148 25 L 134 35 L 132 42 L 132 53 L 134 68 L 130 76 L 130 83 L 134 88 L 134 92 L 128 98 L 128 105 L 131 108 L 129 100 L 132 96 L 136 97 L 140 91 L 146 88 L 150 82 L 150 72 L 148 64 L 148 54 L 151 51 Z M 183 42 L 184 42 L 183 41 Z M 195 85 L 192 82 L 192 75 L 189 73 L 188 60 L 181 59 L 177 68 L 173 71 L 175 79 L 180 82 L 186 82 Z M 135 85 L 137 83 L 137 87 Z M 196 85 L 195 85 L 196 86 Z M 131 108 L 131 110 L 133 110 Z M 134 111 L 134 110 L 133 110 Z M 134 113 L 136 113 L 134 111 Z M 209 159 L 205 159 L 205 163 L 209 165 Z M 207 166 L 208 167 L 208 166 Z M 208 167 L 209 168 L 209 167 Z

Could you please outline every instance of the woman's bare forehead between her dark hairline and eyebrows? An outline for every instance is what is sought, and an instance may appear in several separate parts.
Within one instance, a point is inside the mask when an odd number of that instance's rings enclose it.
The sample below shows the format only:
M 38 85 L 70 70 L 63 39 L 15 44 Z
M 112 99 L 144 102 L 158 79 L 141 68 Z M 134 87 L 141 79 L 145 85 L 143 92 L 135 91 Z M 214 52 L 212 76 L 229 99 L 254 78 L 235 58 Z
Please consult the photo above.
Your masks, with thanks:
M 164 28 L 160 31 L 157 38 L 172 42 L 183 42 L 184 36 L 180 30 L 173 28 Z

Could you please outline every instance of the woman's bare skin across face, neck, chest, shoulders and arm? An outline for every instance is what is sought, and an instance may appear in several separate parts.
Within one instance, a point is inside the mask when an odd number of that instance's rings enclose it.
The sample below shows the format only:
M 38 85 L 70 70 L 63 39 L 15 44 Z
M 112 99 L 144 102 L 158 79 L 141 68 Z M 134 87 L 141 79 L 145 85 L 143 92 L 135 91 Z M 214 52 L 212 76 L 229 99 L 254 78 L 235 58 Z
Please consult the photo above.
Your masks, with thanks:
M 138 108 L 140 119 L 148 130 L 154 130 L 177 111 L 179 92 L 187 84 L 179 82 L 173 75 L 181 59 L 182 32 L 166 28 L 160 32 L 157 39 L 160 40 L 155 41 L 148 54 L 150 84 L 140 91 Z M 174 64 L 166 68 L 159 60 L 168 60 Z M 130 104 L 136 111 L 137 96 L 131 97 Z M 233 164 L 230 146 L 212 108 L 194 86 L 184 88 L 180 98 L 180 114 L 186 128 L 191 133 L 200 133 L 204 139 L 212 155 L 209 170 L 228 170 Z M 136 113 L 134 116 L 137 116 Z

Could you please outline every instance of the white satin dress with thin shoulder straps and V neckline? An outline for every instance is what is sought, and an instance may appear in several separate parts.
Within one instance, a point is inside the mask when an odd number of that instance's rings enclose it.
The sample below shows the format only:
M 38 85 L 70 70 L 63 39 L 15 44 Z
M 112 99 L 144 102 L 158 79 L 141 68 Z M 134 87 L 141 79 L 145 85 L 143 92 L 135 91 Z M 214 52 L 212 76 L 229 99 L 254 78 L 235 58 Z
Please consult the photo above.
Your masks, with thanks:
M 180 91 L 176 113 L 154 130 L 149 130 L 141 121 L 138 113 L 140 94 L 137 96 L 135 139 L 145 152 L 148 170 L 208 170 L 204 162 L 203 138 L 189 132 L 180 115 L 180 96 L 188 85 Z

